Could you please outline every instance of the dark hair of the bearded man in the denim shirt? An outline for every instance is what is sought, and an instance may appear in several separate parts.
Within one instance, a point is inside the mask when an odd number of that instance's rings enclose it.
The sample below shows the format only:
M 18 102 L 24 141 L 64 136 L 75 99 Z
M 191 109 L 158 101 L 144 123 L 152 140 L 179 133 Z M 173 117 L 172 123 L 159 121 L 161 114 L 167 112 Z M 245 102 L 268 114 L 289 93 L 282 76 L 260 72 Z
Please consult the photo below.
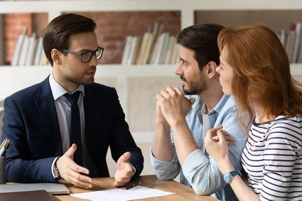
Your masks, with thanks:
M 224 26 L 214 23 L 189 26 L 178 33 L 176 43 L 194 51 L 194 58 L 200 70 L 210 61 L 219 65 L 220 53 L 217 46 L 217 36 L 222 28 Z

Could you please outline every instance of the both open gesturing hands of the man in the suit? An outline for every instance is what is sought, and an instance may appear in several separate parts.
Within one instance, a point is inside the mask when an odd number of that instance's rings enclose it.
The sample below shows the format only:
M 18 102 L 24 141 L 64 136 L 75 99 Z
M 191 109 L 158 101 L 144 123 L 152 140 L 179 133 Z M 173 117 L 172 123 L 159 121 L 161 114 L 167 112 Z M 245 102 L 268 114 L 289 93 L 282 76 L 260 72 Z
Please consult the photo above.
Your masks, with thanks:
M 87 168 L 77 165 L 73 161 L 73 154 L 77 150 L 77 145 L 74 143 L 72 146 L 64 153 L 63 156 L 58 158 L 55 162 L 56 167 L 60 172 L 60 177 L 64 180 L 72 183 L 76 187 L 90 189 L 92 188 L 92 178 L 86 176 L 90 173 Z M 130 152 L 124 153 L 117 161 L 116 170 L 114 173 L 114 187 L 120 187 L 125 185 L 131 180 L 134 175 L 134 169 L 131 163 L 128 161 L 131 156 Z M 84 173 L 86 175 L 82 175 Z

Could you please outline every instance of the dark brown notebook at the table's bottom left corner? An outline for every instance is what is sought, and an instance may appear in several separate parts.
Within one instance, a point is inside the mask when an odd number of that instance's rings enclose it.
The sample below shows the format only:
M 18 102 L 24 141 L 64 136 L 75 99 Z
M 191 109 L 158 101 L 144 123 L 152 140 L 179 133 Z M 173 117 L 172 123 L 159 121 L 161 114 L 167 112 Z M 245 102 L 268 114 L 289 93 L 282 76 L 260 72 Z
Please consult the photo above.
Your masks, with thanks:
M 21 191 L 21 192 L 2 192 L 0 201 L 59 201 L 59 199 L 45 190 Z

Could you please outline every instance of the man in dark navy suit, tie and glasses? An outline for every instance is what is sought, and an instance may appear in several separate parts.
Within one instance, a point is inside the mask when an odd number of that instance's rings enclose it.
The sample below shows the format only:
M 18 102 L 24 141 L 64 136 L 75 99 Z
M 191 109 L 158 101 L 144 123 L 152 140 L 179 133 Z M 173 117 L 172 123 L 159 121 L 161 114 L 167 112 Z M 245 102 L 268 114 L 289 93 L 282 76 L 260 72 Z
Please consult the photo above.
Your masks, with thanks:
M 94 83 L 95 22 L 63 14 L 45 28 L 43 48 L 53 72 L 41 83 L 7 97 L 2 141 L 8 182 L 55 182 L 92 188 L 92 177 L 109 176 L 110 146 L 117 162 L 114 186 L 141 173 L 144 158 L 124 120 L 117 92 Z M 75 101 L 70 97 L 75 96 Z

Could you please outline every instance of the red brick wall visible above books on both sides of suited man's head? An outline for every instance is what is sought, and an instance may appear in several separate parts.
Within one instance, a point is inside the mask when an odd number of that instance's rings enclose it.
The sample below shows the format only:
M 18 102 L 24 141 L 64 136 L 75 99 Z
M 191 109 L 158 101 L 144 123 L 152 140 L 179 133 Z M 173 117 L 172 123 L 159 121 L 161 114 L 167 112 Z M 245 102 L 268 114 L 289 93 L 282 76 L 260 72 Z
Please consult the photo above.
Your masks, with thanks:
M 176 35 L 180 31 L 179 11 L 135 11 L 135 12 L 90 12 L 80 13 L 97 23 L 97 38 L 105 48 L 101 63 L 121 63 L 122 51 L 118 51 L 127 35 L 143 35 L 154 23 L 164 25 L 163 31 Z M 16 39 L 23 28 L 28 34 L 34 31 L 38 36 L 47 25 L 46 13 L 12 13 L 4 16 L 5 61 L 10 63 L 14 54 Z M 115 56 L 114 56 L 115 55 Z

